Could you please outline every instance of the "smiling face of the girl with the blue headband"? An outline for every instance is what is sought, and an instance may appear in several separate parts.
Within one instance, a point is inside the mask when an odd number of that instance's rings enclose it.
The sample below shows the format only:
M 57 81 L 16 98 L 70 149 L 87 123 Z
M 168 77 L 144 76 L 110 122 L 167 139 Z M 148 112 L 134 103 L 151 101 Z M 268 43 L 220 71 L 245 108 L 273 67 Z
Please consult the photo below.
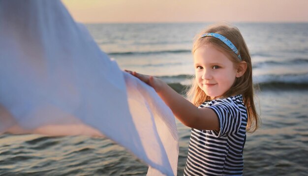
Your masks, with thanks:
M 237 69 L 223 52 L 206 44 L 195 50 L 193 59 L 196 81 L 206 95 L 216 99 L 231 88 Z

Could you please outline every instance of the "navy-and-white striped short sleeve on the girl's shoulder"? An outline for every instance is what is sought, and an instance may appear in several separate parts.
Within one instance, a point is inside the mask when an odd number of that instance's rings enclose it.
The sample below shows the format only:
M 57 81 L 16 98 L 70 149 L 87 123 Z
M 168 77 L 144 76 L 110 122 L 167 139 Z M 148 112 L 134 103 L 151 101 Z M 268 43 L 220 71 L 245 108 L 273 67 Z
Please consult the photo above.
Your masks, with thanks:
M 241 112 L 237 104 L 231 98 L 218 100 L 212 106 L 208 106 L 216 113 L 219 120 L 219 132 L 212 131 L 216 137 L 237 133 L 241 126 Z

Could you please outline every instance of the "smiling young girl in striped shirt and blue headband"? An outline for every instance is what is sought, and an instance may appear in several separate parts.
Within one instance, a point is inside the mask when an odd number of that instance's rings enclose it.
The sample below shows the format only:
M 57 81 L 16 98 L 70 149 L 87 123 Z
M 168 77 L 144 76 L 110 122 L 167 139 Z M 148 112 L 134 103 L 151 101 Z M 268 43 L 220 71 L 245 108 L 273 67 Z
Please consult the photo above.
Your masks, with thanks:
M 192 54 L 191 102 L 158 78 L 127 72 L 152 86 L 174 115 L 192 128 L 184 175 L 243 175 L 246 131 L 254 132 L 260 123 L 244 38 L 235 27 L 210 26 L 196 36 Z

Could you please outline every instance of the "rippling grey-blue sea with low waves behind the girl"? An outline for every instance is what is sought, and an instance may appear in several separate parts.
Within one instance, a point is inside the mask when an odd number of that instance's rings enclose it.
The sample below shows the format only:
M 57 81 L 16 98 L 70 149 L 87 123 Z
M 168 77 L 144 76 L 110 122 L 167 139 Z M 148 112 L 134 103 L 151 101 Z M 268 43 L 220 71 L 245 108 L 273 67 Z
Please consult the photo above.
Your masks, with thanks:
M 153 75 L 185 96 L 194 36 L 209 23 L 85 24 L 121 69 Z M 235 23 L 252 59 L 261 127 L 247 134 L 244 176 L 308 176 L 308 23 Z M 178 176 L 190 128 L 176 120 Z M 148 166 L 106 138 L 0 135 L 1 176 L 145 176 Z

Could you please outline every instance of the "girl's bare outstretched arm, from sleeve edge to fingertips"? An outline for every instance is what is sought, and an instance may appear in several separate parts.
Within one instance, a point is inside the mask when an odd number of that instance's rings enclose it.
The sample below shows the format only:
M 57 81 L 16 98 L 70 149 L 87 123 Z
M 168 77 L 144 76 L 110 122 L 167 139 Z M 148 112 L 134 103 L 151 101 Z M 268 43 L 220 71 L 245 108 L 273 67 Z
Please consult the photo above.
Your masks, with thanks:
M 153 87 L 173 114 L 186 126 L 200 130 L 219 130 L 216 113 L 210 108 L 197 108 L 162 80 L 125 70 Z

